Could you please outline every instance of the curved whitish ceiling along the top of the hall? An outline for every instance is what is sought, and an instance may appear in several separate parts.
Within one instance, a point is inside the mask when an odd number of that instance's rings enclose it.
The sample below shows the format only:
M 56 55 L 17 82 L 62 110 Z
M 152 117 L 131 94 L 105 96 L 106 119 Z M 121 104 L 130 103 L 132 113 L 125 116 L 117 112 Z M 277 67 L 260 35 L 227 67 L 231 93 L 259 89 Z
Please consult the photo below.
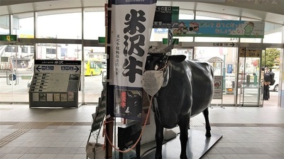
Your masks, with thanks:
M 217 13 L 229 20 L 236 18 L 235 16 L 242 16 L 284 25 L 283 0 L 275 0 L 280 3 L 279 5 L 246 4 L 244 1 L 255 0 L 158 0 L 157 6 L 179 6 L 180 13 L 185 14 L 192 14 L 192 11 L 196 10 L 202 13 L 199 16 L 212 16 Z M 84 11 L 104 11 L 104 4 L 107 4 L 107 0 L 0 0 L 0 16 L 13 14 L 18 18 L 26 18 L 33 16 L 33 11 L 38 11 L 39 16 L 72 13 L 81 11 L 81 7 L 84 7 Z

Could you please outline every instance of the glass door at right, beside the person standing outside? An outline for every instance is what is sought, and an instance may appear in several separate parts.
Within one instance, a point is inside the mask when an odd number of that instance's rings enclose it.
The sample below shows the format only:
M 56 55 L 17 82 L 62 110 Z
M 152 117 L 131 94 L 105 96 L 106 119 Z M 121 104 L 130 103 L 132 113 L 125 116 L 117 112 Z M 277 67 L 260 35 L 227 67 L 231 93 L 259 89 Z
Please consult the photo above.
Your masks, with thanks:
M 261 106 L 262 50 L 239 48 L 238 105 Z

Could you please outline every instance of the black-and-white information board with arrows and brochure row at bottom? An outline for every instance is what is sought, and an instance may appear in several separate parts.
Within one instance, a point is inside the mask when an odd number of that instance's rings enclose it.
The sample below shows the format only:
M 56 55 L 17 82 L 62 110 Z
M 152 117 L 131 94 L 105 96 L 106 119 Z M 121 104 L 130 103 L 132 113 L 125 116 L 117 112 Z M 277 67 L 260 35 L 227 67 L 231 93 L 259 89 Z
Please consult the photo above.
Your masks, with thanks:
M 81 61 L 35 60 L 30 107 L 77 107 Z

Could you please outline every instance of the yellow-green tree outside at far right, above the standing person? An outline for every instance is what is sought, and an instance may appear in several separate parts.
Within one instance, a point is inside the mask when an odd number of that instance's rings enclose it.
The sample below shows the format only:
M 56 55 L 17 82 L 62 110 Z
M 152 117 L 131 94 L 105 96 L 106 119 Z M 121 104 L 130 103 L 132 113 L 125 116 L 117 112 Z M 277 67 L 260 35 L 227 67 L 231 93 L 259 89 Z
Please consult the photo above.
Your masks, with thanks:
M 275 67 L 280 65 L 280 50 L 277 48 L 267 48 L 262 54 L 261 66 Z

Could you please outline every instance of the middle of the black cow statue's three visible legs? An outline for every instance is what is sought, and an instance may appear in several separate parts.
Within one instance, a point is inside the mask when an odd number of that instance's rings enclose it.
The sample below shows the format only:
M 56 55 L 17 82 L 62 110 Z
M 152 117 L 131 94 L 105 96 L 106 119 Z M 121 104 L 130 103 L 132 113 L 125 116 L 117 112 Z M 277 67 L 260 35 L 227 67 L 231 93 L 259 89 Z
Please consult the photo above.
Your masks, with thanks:
M 183 116 L 180 120 L 180 159 L 187 159 L 186 149 L 188 141 L 188 125 L 190 124 L 190 116 Z

